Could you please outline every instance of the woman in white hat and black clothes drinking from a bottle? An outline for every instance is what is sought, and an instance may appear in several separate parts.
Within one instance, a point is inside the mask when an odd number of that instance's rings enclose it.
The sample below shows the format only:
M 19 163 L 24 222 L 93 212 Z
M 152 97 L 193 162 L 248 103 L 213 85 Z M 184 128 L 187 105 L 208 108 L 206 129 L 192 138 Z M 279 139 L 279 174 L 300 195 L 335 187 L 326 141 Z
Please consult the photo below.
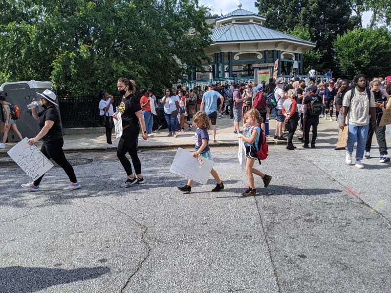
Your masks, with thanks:
M 36 137 L 30 138 L 28 144 L 32 146 L 42 138 L 43 145 L 41 152 L 43 155 L 48 159 L 53 159 L 54 162 L 64 169 L 66 175 L 69 177 L 70 183 L 63 190 L 78 189 L 81 185 L 77 182 L 75 171 L 66 160 L 63 151 L 63 127 L 60 120 L 60 111 L 55 107 L 55 105 L 58 106 L 56 104 L 56 95 L 49 89 L 46 89 L 42 94 L 38 94 L 41 96 L 40 102 L 43 111 L 38 112 L 33 102 L 31 103 L 33 105 L 31 113 L 35 119 L 39 120 L 41 131 Z M 38 191 L 42 178 L 43 175 L 32 183 L 22 184 L 22 188 L 30 191 Z

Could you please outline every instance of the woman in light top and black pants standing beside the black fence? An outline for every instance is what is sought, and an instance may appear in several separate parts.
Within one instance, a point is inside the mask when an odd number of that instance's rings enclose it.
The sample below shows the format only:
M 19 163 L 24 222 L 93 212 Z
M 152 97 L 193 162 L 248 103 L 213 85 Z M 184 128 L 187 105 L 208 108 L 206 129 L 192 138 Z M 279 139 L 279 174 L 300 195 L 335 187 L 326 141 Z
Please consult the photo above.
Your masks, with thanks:
M 101 99 L 99 102 L 99 123 L 106 128 L 106 142 L 108 148 L 116 148 L 117 146 L 113 145 L 111 140 L 111 132 L 114 128 L 114 121 L 112 120 L 112 116 L 114 114 L 112 105 L 114 97 L 104 90 L 99 92 L 98 97 Z

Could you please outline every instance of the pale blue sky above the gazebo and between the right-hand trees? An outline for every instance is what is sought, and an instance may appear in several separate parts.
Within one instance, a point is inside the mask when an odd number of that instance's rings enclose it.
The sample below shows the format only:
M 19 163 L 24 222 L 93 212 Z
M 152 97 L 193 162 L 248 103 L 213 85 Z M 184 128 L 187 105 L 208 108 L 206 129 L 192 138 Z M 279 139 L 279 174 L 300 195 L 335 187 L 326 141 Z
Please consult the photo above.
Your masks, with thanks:
M 254 0 L 241 0 L 243 9 L 258 13 L 258 9 L 254 6 Z M 239 0 L 199 0 L 199 4 L 204 4 L 212 8 L 212 14 L 220 15 L 220 9 L 223 15 L 238 9 Z M 364 13 L 363 26 L 369 23 L 370 13 Z

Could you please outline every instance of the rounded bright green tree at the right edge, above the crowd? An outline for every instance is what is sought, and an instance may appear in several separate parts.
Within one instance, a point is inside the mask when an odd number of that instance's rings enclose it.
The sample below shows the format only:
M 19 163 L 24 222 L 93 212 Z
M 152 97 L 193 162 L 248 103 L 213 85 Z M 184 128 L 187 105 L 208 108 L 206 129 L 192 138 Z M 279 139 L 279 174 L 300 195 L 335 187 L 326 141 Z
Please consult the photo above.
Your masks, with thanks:
M 391 71 L 391 33 L 386 28 L 355 28 L 333 43 L 336 60 L 347 77 L 363 73 L 368 77 Z

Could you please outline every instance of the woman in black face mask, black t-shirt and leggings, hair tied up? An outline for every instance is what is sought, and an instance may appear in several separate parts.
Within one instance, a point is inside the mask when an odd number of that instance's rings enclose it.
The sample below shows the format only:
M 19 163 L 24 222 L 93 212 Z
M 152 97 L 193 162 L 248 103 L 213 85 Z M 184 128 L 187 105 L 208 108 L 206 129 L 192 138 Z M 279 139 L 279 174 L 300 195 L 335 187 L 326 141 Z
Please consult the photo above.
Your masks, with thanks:
M 123 129 L 122 136 L 118 143 L 117 157 L 128 175 L 125 183 L 121 184 L 121 188 L 128 188 L 136 183 L 145 183 L 143 175 L 141 174 L 140 159 L 137 156 L 137 138 L 140 132 L 140 125 L 143 139 L 147 140 L 148 135 L 140 102 L 134 95 L 134 92 L 136 91 L 135 82 L 121 77 L 117 82 L 117 88 L 120 96 L 122 96 L 118 110 L 121 112 Z M 114 113 L 113 118 L 117 119 L 117 113 Z M 138 123 L 140 123 L 140 125 Z M 132 172 L 130 161 L 126 157 L 126 153 L 130 154 L 136 175 Z

